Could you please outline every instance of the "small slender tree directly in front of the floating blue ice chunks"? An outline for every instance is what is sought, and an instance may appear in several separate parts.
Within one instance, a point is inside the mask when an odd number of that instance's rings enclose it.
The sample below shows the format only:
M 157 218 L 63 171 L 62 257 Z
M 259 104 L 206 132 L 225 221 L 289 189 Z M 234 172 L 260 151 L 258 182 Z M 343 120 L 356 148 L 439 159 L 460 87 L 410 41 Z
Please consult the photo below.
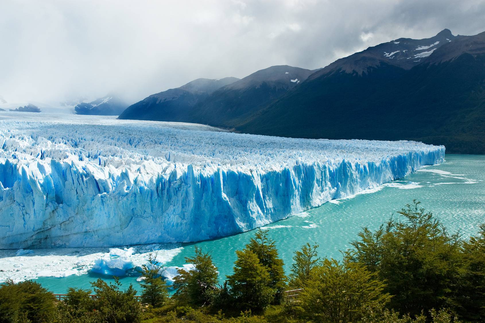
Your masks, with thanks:
M 157 254 L 148 254 L 148 265 L 142 265 L 142 276 L 145 278 L 141 283 L 142 302 L 153 307 L 162 306 L 168 299 L 168 290 L 160 272 L 161 267 L 156 262 Z

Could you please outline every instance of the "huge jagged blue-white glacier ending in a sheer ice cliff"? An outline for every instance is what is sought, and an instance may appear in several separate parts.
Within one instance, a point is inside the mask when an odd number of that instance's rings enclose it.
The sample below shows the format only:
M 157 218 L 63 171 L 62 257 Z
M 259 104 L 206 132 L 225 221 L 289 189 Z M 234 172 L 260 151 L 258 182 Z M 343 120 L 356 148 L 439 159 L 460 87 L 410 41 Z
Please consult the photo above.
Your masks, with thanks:
M 224 237 L 444 161 L 413 141 L 0 112 L 0 249 Z

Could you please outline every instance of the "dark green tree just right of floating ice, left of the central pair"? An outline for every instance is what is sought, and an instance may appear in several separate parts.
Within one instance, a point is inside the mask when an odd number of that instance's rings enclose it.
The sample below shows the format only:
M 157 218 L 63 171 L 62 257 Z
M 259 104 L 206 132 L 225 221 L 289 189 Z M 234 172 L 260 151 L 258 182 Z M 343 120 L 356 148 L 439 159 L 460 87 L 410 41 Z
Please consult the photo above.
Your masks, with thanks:
M 174 279 L 174 288 L 177 289 L 176 298 L 194 305 L 209 304 L 218 290 L 219 275 L 212 256 L 209 253 L 203 253 L 202 249 L 195 246 L 194 256 L 186 257 L 185 261 L 194 265 L 194 269 L 188 272 L 183 269 L 178 270 L 178 276 Z

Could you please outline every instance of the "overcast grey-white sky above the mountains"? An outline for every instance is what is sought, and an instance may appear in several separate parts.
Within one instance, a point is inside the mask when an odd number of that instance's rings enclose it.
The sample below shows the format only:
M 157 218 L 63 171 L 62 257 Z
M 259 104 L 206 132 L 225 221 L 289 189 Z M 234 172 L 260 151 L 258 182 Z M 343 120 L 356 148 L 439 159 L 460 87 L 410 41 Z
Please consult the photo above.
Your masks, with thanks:
M 0 1 L 0 95 L 130 102 L 196 78 L 320 68 L 400 37 L 485 31 L 484 0 Z

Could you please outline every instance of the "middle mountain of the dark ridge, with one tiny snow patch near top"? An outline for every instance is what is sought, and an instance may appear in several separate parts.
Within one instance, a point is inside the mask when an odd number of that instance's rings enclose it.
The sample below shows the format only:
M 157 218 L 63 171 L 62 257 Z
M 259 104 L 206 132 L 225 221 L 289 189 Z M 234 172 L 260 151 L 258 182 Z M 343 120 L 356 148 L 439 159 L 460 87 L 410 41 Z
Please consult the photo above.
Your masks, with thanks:
M 297 87 L 313 72 L 288 65 L 261 69 L 214 91 L 192 109 L 189 121 L 231 128 Z

